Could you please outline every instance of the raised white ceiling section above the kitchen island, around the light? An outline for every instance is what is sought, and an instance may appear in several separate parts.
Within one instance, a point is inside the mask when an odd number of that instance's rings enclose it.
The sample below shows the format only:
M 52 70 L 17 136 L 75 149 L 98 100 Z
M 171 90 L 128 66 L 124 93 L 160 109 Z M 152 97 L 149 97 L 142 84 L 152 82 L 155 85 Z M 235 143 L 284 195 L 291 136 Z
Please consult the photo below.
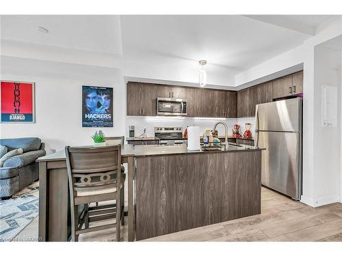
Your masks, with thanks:
M 124 58 L 176 57 L 246 70 L 311 35 L 238 15 L 121 16 Z

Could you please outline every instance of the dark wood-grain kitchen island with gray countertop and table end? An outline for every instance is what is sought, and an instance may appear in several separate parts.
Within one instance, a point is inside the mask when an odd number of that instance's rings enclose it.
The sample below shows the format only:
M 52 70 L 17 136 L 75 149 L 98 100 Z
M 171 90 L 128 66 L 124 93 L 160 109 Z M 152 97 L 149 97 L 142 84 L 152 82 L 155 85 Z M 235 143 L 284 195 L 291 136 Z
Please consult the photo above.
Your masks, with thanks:
M 124 145 L 122 160 L 129 164 L 129 240 L 133 240 L 133 221 L 136 240 L 143 240 L 261 212 L 261 149 L 257 147 L 189 151 L 185 145 Z M 38 162 L 39 236 L 67 240 L 64 152 Z

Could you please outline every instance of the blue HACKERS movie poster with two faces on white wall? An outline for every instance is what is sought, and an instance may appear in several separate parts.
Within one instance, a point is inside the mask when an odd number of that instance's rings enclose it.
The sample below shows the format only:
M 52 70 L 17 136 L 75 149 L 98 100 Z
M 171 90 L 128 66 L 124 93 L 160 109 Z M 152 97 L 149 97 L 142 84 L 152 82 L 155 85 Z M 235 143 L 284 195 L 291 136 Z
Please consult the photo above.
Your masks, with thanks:
M 82 127 L 113 127 L 113 88 L 82 86 Z

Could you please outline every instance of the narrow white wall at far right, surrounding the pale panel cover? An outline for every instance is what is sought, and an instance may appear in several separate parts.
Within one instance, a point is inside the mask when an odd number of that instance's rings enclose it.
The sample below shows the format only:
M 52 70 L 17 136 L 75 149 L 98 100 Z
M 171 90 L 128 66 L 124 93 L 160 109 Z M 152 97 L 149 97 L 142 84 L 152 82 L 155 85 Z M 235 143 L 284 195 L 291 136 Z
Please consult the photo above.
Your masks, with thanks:
M 336 127 L 321 126 L 322 87 L 338 88 L 338 106 L 341 106 L 341 65 L 339 51 L 324 46 L 315 47 L 315 82 L 314 82 L 314 158 L 313 175 L 315 189 L 314 205 L 324 205 L 339 201 L 339 177 L 341 173 L 341 109 L 338 108 Z

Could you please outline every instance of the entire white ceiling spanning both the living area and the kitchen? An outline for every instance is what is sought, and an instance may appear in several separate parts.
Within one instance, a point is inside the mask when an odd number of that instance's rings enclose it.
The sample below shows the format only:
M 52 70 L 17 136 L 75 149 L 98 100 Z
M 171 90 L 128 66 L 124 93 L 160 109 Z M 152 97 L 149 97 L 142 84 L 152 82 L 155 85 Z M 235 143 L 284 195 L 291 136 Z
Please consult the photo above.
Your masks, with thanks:
M 129 72 L 140 70 L 127 76 L 163 79 L 165 74 L 152 77 L 157 72 L 154 64 L 160 70 L 178 68 L 177 77 L 191 70 L 194 74 L 187 81 L 196 81 L 198 61 L 206 59 L 211 76 L 222 78 L 212 83 L 224 85 L 224 76 L 233 79 L 238 72 L 299 46 L 331 17 L 14 15 L 1 16 L 0 24 L 3 40 L 122 55 L 124 65 L 132 67 Z M 50 32 L 40 33 L 37 26 Z

